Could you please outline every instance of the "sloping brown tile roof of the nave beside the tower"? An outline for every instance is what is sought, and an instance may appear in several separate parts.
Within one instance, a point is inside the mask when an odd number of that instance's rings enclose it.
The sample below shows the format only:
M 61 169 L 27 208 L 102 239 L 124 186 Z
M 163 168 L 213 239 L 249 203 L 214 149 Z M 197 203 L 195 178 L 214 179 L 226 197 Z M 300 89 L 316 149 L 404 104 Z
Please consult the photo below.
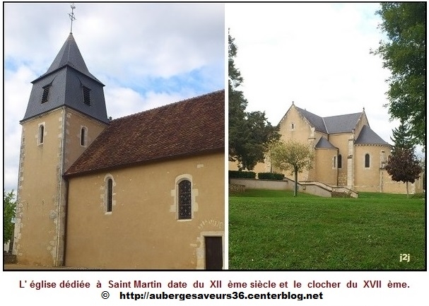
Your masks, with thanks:
M 65 176 L 223 151 L 225 90 L 114 119 Z

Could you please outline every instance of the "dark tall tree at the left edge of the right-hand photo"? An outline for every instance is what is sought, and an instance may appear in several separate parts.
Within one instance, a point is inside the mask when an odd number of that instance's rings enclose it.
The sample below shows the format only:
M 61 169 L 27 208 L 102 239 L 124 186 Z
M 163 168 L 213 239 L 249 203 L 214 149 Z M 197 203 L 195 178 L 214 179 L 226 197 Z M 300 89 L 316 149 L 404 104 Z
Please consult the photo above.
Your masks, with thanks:
M 265 112 L 246 112 L 247 100 L 240 86 L 243 78 L 235 67 L 237 46 L 228 34 L 228 160 L 237 162 L 240 170 L 253 170 L 263 162 L 269 144 L 280 138 L 278 128 L 271 126 Z

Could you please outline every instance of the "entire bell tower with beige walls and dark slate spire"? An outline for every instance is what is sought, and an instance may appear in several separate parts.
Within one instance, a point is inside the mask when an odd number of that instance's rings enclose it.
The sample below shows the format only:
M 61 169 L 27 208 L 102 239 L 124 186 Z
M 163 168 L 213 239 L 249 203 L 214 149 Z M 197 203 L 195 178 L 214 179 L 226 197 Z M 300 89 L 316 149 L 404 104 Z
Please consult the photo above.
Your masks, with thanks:
M 32 83 L 20 121 L 14 253 L 23 264 L 61 266 L 67 212 L 63 175 L 109 124 L 104 85 L 88 71 L 72 33 L 47 72 Z

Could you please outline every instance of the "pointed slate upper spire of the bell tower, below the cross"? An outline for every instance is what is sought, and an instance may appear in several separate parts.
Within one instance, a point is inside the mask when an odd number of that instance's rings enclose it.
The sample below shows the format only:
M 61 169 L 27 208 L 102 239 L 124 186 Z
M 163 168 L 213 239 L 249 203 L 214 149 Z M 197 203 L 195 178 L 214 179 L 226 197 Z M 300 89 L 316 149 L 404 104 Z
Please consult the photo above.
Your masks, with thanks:
M 76 69 L 77 71 L 85 74 L 86 76 L 93 78 L 93 80 L 98 81 L 98 79 L 95 78 L 95 76 L 93 76 L 89 72 L 88 67 L 86 66 L 85 61 L 83 60 L 81 51 L 79 51 L 78 45 L 76 44 L 76 40 L 74 40 L 72 33 L 70 33 L 69 37 L 67 37 L 66 42 L 64 42 L 64 45 L 59 50 L 57 57 L 55 57 L 51 66 L 49 66 L 49 69 L 47 69 L 46 73 L 40 76 L 39 78 L 47 76 L 49 73 L 57 71 L 63 68 L 64 66 L 70 66 Z

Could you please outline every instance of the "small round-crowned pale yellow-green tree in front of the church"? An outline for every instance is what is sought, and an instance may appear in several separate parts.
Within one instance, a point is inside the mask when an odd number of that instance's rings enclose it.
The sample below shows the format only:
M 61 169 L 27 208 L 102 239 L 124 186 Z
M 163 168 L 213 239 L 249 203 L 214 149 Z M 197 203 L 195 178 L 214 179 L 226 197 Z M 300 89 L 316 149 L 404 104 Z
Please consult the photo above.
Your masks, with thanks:
M 281 171 L 290 171 L 295 176 L 293 196 L 298 195 L 298 172 L 312 168 L 312 149 L 295 139 L 277 141 L 270 149 L 271 164 Z

